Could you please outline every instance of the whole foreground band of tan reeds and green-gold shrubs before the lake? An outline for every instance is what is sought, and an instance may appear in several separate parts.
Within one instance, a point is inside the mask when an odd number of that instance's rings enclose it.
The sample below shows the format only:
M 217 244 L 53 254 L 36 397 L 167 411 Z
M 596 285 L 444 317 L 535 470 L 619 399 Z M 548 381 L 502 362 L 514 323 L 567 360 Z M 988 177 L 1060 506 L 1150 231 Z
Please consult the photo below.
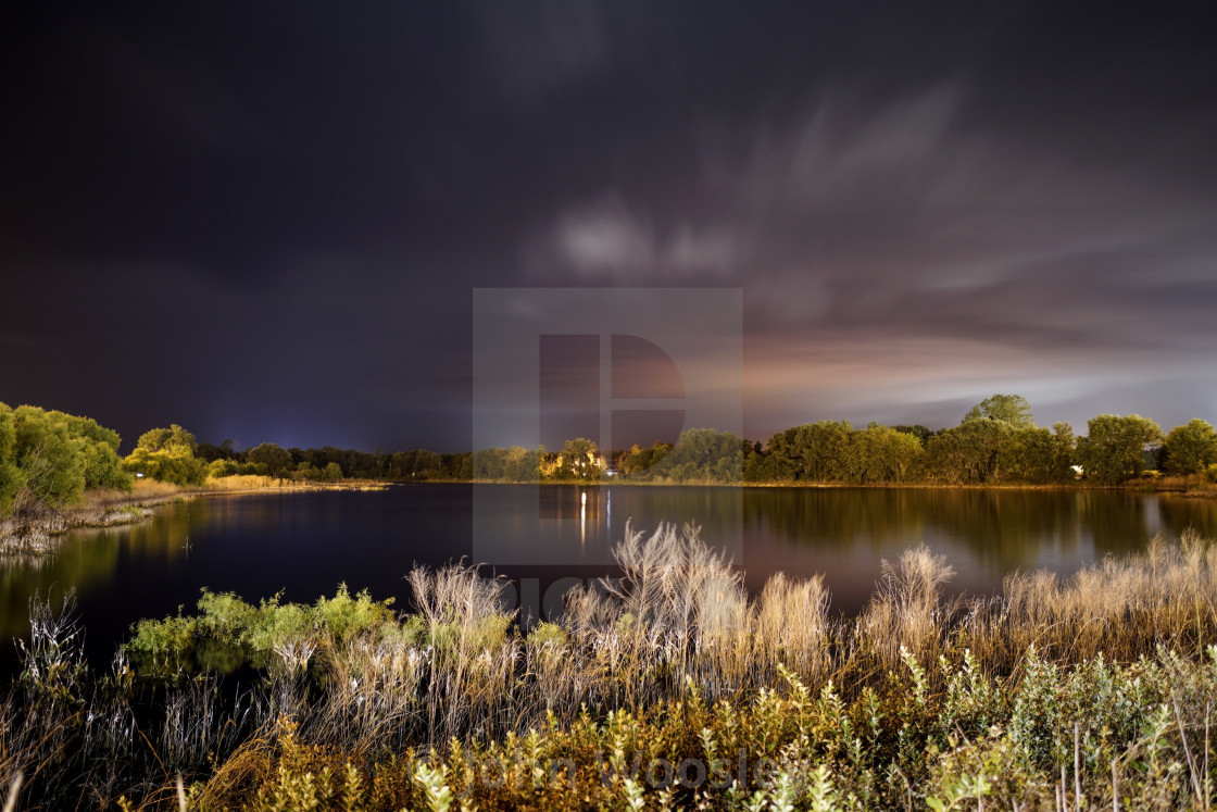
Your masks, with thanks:
M 0 782 L 45 807 L 1212 802 L 1217 547 L 1195 534 L 970 599 L 914 548 L 857 617 L 830 615 L 823 577 L 750 598 L 695 527 L 627 530 L 616 556 L 621 578 L 529 629 L 465 564 L 416 567 L 403 616 L 346 589 L 206 593 L 141 622 L 102 676 L 71 606 L 35 604 Z M 215 661 L 262 677 L 236 688 Z

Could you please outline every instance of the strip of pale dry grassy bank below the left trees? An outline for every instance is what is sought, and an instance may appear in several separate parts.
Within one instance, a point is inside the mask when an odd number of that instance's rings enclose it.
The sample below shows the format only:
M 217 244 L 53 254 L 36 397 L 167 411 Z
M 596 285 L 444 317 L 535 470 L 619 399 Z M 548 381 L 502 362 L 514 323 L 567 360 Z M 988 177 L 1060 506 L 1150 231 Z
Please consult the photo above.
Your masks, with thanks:
M 27 505 L 0 520 L 0 555 L 46 555 L 57 537 L 84 527 L 134 525 L 152 517 L 156 508 L 198 497 L 237 497 L 314 491 L 383 491 L 385 482 L 297 482 L 269 476 L 230 476 L 203 486 L 183 487 L 151 480 L 138 481 L 130 491 L 90 491 L 84 502 L 58 510 Z

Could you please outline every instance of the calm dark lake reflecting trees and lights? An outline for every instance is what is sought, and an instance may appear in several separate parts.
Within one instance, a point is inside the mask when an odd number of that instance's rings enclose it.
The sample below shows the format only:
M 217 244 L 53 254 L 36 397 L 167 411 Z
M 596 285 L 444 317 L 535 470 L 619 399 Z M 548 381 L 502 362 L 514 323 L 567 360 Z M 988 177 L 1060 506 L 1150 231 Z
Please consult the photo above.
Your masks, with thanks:
M 200 589 L 246 600 L 332 595 L 340 582 L 409 606 L 415 562 L 493 564 L 533 617 L 606 562 L 627 520 L 652 530 L 692 522 L 724 547 L 757 590 L 775 570 L 823 572 L 834 607 L 857 611 L 882 559 L 925 543 L 947 556 L 953 592 L 1000 590 L 1015 570 L 1071 573 L 1156 533 L 1217 537 L 1217 502 L 1107 491 L 948 488 L 722 488 L 413 485 L 383 492 L 208 497 L 167 505 L 130 527 L 77 531 L 43 559 L 0 560 L 0 660 L 13 663 L 35 592 L 73 588 L 95 665 L 141 617 L 194 609 Z M 489 569 L 488 569 L 489 572 Z

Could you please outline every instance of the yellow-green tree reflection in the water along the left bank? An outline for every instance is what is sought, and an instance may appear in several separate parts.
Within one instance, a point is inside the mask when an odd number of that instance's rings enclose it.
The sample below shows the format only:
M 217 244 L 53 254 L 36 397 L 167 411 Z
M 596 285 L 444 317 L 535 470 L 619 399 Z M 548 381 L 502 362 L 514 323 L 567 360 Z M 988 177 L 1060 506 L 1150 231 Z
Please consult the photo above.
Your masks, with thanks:
M 73 531 L 51 555 L 0 560 L 0 640 L 29 633 L 34 593 L 51 595 L 54 603 L 66 589 L 85 594 L 92 584 L 111 581 L 125 558 L 185 558 L 186 538 L 191 528 L 207 523 L 209 509 L 207 500 L 164 505 L 150 521 Z

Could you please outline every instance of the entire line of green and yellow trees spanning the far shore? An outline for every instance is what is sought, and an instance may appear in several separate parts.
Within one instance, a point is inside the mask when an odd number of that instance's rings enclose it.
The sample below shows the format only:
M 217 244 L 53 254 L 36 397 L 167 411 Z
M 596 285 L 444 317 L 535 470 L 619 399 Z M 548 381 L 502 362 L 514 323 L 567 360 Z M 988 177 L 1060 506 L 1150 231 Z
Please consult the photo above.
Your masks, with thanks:
M 1049 485 L 1078 478 L 1117 485 L 1162 474 L 1206 475 L 1217 482 L 1217 431 L 1191 420 L 1163 433 L 1139 415 L 1099 415 L 1076 437 L 1066 422 L 1037 426 L 1031 405 L 994 394 L 958 426 L 854 429 L 821 420 L 773 435 L 765 443 L 712 429 L 685 431 L 679 442 L 601 452 L 585 438 L 555 452 L 544 447 L 438 454 L 427 449 L 360 452 L 281 448 L 237 450 L 231 441 L 200 443 L 173 425 L 144 433 L 125 459 L 118 433 L 88 418 L 0 403 L 0 517 L 18 509 L 78 504 L 88 488 L 130 489 L 147 477 L 200 486 L 208 477 L 252 474 L 286 480 L 639 482 L 847 485 Z

